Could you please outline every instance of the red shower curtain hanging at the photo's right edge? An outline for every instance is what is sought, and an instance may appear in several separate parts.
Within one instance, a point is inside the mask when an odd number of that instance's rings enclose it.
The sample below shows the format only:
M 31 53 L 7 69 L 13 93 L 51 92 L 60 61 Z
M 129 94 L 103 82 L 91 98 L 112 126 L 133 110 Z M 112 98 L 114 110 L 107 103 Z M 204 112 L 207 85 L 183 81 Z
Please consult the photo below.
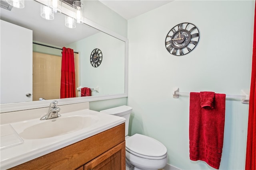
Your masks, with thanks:
M 256 170 L 256 4 L 254 9 L 252 77 L 251 77 L 251 88 L 250 88 L 245 169 Z

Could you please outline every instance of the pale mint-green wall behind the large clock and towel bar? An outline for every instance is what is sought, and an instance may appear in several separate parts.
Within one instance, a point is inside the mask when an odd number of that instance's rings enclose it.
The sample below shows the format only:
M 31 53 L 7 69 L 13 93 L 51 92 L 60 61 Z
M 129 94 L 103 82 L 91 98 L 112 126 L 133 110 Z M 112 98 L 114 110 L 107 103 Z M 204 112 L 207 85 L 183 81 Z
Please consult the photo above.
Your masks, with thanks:
M 184 1 L 128 20 L 130 135 L 154 137 L 168 149 L 168 164 L 180 169 L 214 169 L 189 158 L 189 97 L 180 92 L 213 91 L 240 95 L 250 89 L 254 1 Z M 165 38 L 178 23 L 200 31 L 196 48 L 176 57 Z M 220 169 L 244 169 L 248 104 L 226 100 Z

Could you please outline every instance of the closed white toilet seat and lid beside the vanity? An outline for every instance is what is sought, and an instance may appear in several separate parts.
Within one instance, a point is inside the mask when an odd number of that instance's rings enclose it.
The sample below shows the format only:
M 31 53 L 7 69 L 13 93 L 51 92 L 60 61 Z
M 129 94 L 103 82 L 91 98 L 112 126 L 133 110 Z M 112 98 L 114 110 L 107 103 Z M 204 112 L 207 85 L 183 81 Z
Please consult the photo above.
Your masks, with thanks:
M 167 156 L 166 147 L 154 138 L 135 134 L 126 139 L 126 151 L 147 159 L 163 159 Z

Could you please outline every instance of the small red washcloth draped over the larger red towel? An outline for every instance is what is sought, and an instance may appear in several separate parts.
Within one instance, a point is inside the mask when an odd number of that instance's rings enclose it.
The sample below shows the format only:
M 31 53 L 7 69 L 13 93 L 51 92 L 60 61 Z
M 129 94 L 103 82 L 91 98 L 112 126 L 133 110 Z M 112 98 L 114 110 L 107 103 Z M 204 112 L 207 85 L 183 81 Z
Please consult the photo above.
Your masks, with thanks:
M 205 109 L 213 109 L 214 92 L 200 92 L 201 107 Z

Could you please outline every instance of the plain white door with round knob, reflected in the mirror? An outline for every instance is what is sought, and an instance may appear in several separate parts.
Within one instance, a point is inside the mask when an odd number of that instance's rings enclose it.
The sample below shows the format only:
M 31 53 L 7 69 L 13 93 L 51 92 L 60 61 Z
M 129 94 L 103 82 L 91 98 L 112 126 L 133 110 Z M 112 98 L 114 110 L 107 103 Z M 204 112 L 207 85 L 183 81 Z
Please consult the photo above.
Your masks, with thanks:
M 32 30 L 0 21 L 0 104 L 32 101 Z

